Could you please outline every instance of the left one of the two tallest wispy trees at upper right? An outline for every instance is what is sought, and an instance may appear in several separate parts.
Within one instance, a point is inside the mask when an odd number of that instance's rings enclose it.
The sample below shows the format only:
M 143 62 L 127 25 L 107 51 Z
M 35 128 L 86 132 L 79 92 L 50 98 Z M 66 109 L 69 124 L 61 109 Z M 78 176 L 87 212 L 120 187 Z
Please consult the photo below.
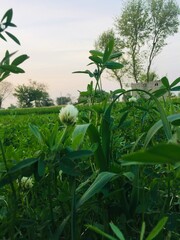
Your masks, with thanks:
M 148 9 L 143 0 L 128 1 L 120 17 L 116 18 L 115 27 L 124 41 L 126 54 L 130 56 L 131 75 L 138 82 L 142 72 L 140 50 L 145 44 L 150 29 Z

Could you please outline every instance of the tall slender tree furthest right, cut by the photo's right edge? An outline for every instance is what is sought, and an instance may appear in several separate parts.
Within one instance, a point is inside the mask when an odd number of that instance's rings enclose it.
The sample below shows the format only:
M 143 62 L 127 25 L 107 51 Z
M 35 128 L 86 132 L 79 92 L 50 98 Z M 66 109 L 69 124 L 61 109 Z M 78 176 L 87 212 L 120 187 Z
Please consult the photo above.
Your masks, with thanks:
M 173 0 L 148 1 L 150 34 L 148 36 L 147 81 L 150 81 L 150 70 L 153 59 L 166 45 L 166 39 L 178 32 L 180 8 Z

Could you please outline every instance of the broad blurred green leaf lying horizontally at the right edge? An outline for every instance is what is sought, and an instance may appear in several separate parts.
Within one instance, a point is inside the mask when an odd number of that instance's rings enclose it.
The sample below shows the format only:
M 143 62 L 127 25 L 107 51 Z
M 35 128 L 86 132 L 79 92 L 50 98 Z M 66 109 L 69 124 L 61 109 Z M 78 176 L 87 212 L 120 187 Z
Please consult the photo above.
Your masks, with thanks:
M 122 157 L 123 165 L 132 164 L 176 164 L 180 162 L 180 146 L 158 144 L 148 150 L 141 150 Z

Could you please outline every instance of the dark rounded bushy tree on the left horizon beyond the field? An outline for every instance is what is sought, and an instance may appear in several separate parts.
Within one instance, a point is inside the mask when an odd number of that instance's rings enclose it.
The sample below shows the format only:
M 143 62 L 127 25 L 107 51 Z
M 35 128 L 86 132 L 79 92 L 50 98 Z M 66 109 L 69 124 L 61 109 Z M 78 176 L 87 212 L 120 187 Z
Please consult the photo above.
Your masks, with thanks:
M 13 94 L 18 98 L 20 107 L 35 107 L 53 105 L 52 99 L 46 91 L 46 86 L 42 83 L 30 81 L 29 85 L 19 85 Z

